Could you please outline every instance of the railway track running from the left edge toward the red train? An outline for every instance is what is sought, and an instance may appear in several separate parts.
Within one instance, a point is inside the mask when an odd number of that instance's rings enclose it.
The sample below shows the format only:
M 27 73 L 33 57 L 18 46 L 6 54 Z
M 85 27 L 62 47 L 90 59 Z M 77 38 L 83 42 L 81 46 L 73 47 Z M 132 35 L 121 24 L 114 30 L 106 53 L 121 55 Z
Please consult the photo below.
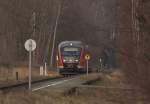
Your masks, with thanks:
M 59 76 L 59 77 L 53 77 L 53 78 L 32 81 L 32 91 L 36 91 L 36 90 L 40 90 L 40 89 L 43 89 L 46 87 L 64 83 L 66 81 L 72 80 L 76 76 L 78 76 L 78 75 Z M 6 93 L 11 92 L 11 91 L 19 91 L 19 90 L 28 90 L 28 82 L 0 87 L 0 91 L 6 92 Z

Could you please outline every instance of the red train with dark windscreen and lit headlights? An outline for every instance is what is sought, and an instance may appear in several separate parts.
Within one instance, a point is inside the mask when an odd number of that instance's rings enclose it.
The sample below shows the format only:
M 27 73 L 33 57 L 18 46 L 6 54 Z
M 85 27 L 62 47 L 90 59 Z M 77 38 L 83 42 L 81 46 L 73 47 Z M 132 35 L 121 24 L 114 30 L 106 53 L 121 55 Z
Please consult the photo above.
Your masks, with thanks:
M 57 68 L 60 74 L 84 73 L 85 49 L 80 41 L 63 41 L 58 46 Z

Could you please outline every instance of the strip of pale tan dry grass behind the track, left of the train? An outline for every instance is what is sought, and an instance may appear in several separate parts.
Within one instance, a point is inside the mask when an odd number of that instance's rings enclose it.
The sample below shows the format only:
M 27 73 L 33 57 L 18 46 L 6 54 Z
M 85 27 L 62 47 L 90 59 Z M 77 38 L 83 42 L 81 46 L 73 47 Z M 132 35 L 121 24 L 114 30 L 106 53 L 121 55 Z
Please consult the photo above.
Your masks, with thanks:
M 18 72 L 18 80 L 16 80 L 16 72 Z M 32 79 L 38 80 L 47 77 L 58 76 L 54 71 L 47 71 L 47 76 L 40 76 L 40 69 L 32 68 Z M 17 68 L 5 68 L 0 67 L 0 85 L 6 85 L 17 82 L 24 82 L 28 80 L 28 68 L 27 67 L 17 67 Z

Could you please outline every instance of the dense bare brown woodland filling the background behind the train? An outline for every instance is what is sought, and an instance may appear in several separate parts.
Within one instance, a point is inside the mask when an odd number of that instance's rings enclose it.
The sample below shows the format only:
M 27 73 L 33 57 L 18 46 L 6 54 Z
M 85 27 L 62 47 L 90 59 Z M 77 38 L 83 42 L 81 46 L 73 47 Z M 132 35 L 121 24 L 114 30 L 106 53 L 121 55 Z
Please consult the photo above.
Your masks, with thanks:
M 81 40 L 91 63 L 105 54 L 128 81 L 150 88 L 149 0 L 0 0 L 1 66 L 27 65 L 28 38 L 37 42 L 33 64 L 50 63 L 57 18 L 55 54 L 60 41 Z

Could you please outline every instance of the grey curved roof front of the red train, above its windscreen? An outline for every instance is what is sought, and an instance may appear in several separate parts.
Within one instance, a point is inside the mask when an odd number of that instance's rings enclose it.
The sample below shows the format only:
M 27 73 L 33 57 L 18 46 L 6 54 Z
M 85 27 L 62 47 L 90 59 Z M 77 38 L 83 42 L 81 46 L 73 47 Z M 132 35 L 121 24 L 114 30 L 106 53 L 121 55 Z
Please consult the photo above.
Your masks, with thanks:
M 77 46 L 77 47 L 83 47 L 83 43 L 81 41 L 63 41 L 59 44 L 60 47 L 65 47 L 65 46 Z

